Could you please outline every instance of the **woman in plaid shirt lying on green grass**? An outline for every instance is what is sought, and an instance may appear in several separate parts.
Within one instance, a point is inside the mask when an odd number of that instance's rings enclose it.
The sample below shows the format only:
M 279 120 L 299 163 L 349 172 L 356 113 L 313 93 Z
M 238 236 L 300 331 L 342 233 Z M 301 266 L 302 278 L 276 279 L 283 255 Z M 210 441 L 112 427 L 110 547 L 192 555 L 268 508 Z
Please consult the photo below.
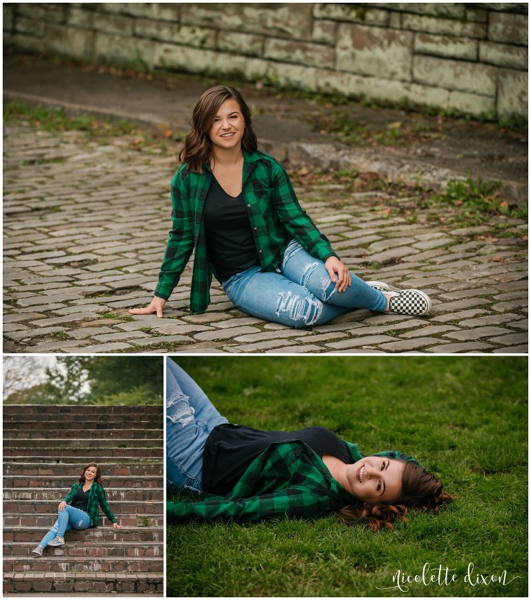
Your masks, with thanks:
M 257 522 L 336 513 L 393 528 L 408 508 L 437 511 L 452 496 L 413 457 L 365 457 L 323 427 L 261 431 L 229 424 L 205 392 L 167 358 L 167 486 L 200 501 L 167 502 L 168 522 Z

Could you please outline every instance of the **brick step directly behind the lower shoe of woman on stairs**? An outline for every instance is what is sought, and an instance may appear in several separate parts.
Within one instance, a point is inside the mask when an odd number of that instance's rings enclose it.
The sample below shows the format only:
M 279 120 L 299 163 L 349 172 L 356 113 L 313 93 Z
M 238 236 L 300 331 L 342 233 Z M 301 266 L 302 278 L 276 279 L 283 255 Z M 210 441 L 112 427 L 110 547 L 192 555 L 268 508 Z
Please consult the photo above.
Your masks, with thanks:
M 42 532 L 39 540 L 46 531 Z M 27 558 L 36 558 L 32 554 L 39 540 L 31 542 L 4 542 L 3 556 L 26 556 Z M 66 543 L 63 546 L 48 547 L 44 549 L 42 558 L 160 558 L 163 555 L 162 542 L 77 542 L 72 543 L 66 535 Z M 36 558 L 40 560 L 40 558 Z

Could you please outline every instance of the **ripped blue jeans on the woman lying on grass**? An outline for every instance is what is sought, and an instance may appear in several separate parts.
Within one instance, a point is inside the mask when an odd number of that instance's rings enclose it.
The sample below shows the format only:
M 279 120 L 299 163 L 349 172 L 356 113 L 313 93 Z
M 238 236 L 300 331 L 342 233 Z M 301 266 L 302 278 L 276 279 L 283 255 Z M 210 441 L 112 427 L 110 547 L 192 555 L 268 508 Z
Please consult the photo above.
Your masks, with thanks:
M 228 423 L 207 395 L 166 358 L 166 489 L 201 494 L 203 451 L 216 425 Z

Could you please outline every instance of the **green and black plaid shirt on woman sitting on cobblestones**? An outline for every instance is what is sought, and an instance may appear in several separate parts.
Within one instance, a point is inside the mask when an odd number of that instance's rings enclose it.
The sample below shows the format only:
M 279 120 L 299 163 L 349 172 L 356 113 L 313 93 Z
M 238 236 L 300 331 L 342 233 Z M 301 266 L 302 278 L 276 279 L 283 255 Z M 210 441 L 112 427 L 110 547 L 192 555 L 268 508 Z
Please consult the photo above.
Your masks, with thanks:
M 167 300 L 194 251 L 190 310 L 204 312 L 210 302 L 212 265 L 207 256 L 203 206 L 212 181 L 209 165 L 190 173 L 181 165 L 171 180 L 171 223 L 155 296 Z M 302 210 L 288 174 L 264 152 L 243 151 L 243 201 L 249 215 L 262 271 L 274 271 L 290 239 L 312 256 L 337 256 L 328 238 Z

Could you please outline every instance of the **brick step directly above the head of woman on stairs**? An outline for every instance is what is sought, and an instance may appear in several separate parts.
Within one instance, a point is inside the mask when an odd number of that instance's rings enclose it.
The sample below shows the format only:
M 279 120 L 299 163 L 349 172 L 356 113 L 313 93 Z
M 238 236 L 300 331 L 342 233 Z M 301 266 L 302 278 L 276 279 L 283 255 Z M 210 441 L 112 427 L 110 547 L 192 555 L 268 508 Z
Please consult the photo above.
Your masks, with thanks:
M 8 446 L 8 447 L 6 447 Z M 40 448 L 25 448 L 24 446 L 15 448 L 9 447 L 10 444 L 4 444 L 3 446 L 3 458 L 4 460 L 12 460 L 12 457 L 24 460 L 55 460 L 56 462 L 71 462 L 72 456 L 68 454 L 70 448 L 57 448 L 54 446 L 46 446 Z M 153 448 L 83 448 L 83 457 L 77 457 L 80 464 L 84 465 L 88 461 L 92 460 L 97 462 L 98 460 L 104 459 L 120 459 L 144 462 L 152 461 L 153 459 L 162 458 L 162 446 Z

